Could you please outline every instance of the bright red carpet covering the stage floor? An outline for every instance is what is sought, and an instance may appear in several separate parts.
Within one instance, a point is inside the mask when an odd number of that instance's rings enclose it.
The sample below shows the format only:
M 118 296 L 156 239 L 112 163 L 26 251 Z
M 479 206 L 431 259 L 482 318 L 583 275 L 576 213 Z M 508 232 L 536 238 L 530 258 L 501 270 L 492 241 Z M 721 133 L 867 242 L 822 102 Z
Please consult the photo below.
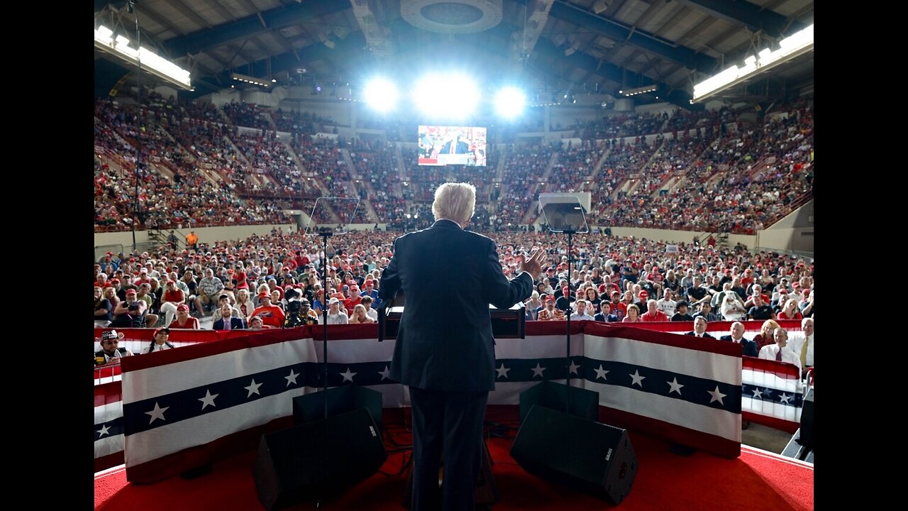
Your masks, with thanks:
M 487 444 L 494 462 L 493 473 L 501 500 L 496 511 L 524 509 L 606 509 L 617 507 L 567 486 L 532 476 L 508 454 L 516 434 L 516 407 L 489 410 L 487 418 L 498 415 L 500 424 L 510 426 L 505 436 L 491 437 Z M 410 434 L 401 425 L 400 415 L 386 420 L 385 446 L 388 460 L 377 473 L 341 495 L 326 496 L 325 509 L 400 510 L 406 485 L 401 466 L 410 451 L 399 451 L 396 444 L 409 445 Z M 390 417 L 386 416 L 386 419 Z M 498 428 L 498 432 L 502 432 Z M 630 432 L 637 452 L 639 471 L 630 494 L 619 506 L 635 510 L 809 510 L 814 508 L 814 467 L 812 465 L 741 446 L 734 459 L 697 451 L 678 456 L 669 451 L 665 440 Z M 143 511 L 175 509 L 217 509 L 219 511 L 262 509 L 256 496 L 252 465 L 255 452 L 246 451 L 212 466 L 212 472 L 194 479 L 173 476 L 150 485 L 126 481 L 123 466 L 98 473 L 94 478 L 94 508 L 103 511 Z M 384 473 L 384 474 L 383 474 Z M 301 501 L 288 509 L 312 509 L 311 501 Z

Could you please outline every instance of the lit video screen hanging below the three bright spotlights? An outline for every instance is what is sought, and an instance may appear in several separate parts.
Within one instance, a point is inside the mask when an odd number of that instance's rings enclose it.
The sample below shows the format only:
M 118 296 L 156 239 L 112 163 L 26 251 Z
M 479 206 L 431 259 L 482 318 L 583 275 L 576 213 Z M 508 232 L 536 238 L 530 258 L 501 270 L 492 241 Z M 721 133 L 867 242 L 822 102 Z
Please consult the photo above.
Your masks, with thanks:
M 486 128 L 419 126 L 419 165 L 486 166 Z

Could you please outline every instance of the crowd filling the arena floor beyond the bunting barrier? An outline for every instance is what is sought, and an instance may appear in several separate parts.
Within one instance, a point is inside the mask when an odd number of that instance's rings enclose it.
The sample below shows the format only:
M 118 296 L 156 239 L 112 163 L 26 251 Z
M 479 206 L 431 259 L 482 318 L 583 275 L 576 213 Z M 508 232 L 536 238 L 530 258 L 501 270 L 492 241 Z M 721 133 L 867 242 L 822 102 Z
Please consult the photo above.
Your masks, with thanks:
M 398 235 L 363 231 L 332 237 L 327 266 L 321 238 L 277 229 L 242 240 L 202 240 L 192 249 L 107 253 L 94 263 L 95 326 L 155 328 L 153 336 L 161 341 L 155 349 L 166 349 L 173 329 L 198 329 L 206 317 L 216 330 L 281 328 L 321 324 L 327 307 L 329 324 L 374 323 L 382 305 L 381 272 Z M 792 363 L 796 358 L 801 367 L 813 366 L 812 260 L 752 253 L 743 245 L 680 244 L 670 253 L 661 241 L 577 235 L 568 280 L 568 254 L 557 236 L 491 235 L 508 277 L 516 275 L 520 257 L 539 247 L 547 251 L 525 303 L 528 321 L 568 315 L 621 323 L 686 321 L 694 336 L 709 336 L 710 321 L 733 321 L 730 340 L 742 342 L 745 355 L 781 356 Z M 798 337 L 797 346 L 785 349 L 788 335 L 777 323 L 784 319 L 802 321 L 810 337 L 806 347 Z M 739 323 L 745 320 L 763 322 L 747 342 Z M 129 356 L 112 351 L 117 336 L 122 333 L 104 332 L 104 353 L 95 354 L 96 364 Z

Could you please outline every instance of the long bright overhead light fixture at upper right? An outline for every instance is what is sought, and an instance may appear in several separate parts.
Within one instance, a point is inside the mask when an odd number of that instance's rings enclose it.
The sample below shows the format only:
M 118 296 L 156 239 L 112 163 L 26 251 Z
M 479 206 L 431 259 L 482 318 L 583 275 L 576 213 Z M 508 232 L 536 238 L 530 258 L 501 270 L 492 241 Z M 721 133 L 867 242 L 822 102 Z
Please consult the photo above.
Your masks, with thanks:
M 784 64 L 798 55 L 812 51 L 814 51 L 814 25 L 804 28 L 795 35 L 785 37 L 779 42 L 779 49 L 773 51 L 765 48 L 760 53 L 745 58 L 744 65 L 740 67 L 732 65 L 718 75 L 710 76 L 694 85 L 694 96 L 691 101 L 703 101 L 745 82 L 752 76 L 769 71 L 776 65 Z

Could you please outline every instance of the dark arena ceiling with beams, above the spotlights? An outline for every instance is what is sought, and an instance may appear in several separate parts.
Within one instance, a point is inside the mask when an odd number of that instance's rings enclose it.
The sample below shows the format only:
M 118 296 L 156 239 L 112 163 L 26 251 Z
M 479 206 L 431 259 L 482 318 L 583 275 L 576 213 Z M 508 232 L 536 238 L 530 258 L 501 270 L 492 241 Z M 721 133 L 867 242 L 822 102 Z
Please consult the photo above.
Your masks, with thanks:
M 94 11 L 95 27 L 131 38 L 138 16 L 143 45 L 192 72 L 189 95 L 230 87 L 231 73 L 330 87 L 457 67 L 537 95 L 657 84 L 635 102 L 686 106 L 695 83 L 814 22 L 812 0 L 95 0 Z M 98 50 L 94 68 L 97 94 L 135 71 Z M 813 82 L 809 52 L 725 96 Z

